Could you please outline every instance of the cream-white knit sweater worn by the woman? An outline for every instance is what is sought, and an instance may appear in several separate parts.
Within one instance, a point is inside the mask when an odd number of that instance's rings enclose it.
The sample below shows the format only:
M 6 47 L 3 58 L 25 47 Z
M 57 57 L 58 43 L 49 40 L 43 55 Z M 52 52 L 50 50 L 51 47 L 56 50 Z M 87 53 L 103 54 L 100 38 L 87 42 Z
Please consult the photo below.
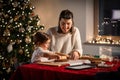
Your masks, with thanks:
M 83 53 L 81 36 L 77 27 L 74 27 L 73 33 L 58 33 L 58 27 L 52 27 L 48 30 L 48 34 L 51 36 L 50 49 L 54 52 L 62 52 L 69 54 L 72 51 L 78 51 L 81 55 Z

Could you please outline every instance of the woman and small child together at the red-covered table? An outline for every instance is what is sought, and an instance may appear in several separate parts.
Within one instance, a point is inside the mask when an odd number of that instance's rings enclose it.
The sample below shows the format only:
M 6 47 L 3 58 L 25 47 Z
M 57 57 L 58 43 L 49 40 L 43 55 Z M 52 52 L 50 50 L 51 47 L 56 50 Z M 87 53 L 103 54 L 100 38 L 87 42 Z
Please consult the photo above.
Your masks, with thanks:
M 82 56 L 80 32 L 74 26 L 73 13 L 63 10 L 59 15 L 58 26 L 50 28 L 47 33 L 37 32 L 34 36 L 35 50 L 31 62 L 66 58 L 77 60 Z

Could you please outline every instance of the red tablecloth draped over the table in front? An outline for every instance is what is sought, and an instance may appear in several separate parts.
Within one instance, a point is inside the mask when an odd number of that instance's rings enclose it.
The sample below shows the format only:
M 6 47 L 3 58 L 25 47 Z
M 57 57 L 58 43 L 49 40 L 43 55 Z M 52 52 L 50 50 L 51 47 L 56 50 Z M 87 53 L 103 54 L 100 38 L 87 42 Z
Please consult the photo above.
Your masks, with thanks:
M 120 64 L 110 68 L 69 70 L 65 66 L 25 64 L 15 71 L 10 80 L 94 80 L 97 72 L 117 71 Z

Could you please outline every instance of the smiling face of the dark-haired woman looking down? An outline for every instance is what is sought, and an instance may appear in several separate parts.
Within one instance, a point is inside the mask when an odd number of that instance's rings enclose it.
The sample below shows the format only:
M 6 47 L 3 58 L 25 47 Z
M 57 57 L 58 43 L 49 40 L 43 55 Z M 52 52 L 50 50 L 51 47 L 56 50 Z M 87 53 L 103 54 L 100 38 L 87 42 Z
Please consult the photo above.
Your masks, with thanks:
M 63 33 L 67 33 L 70 31 L 71 27 L 72 27 L 72 19 L 64 19 L 61 18 L 60 20 L 60 28 L 62 30 Z

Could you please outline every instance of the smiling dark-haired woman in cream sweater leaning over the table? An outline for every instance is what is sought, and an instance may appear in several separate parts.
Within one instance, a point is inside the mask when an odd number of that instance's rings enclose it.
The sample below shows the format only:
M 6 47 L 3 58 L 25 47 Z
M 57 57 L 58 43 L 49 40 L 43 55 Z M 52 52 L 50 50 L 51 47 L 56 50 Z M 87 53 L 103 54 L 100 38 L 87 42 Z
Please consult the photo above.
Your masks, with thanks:
M 73 13 L 63 10 L 59 16 L 58 26 L 48 30 L 51 36 L 52 51 L 69 54 L 71 59 L 79 59 L 82 56 L 81 37 L 77 27 L 74 26 Z

